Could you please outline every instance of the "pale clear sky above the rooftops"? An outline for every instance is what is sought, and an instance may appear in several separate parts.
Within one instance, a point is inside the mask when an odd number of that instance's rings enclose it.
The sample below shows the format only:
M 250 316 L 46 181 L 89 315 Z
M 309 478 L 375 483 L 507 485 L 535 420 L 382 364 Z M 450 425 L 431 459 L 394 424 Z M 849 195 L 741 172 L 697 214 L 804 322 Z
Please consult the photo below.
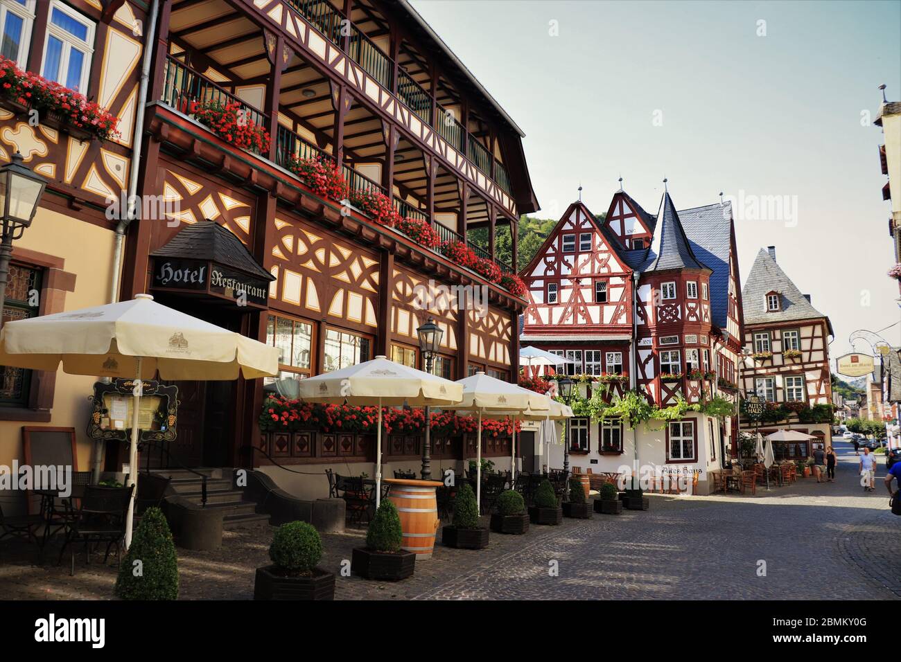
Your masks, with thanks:
M 535 215 L 559 217 L 579 183 L 605 212 L 621 174 L 651 213 L 663 177 L 678 208 L 784 195 L 796 223 L 736 223 L 742 285 L 776 245 L 832 319 L 833 358 L 851 331 L 901 320 L 882 131 L 861 126 L 880 84 L 901 100 L 901 2 L 412 4 L 525 131 Z M 901 324 L 883 336 L 898 344 Z

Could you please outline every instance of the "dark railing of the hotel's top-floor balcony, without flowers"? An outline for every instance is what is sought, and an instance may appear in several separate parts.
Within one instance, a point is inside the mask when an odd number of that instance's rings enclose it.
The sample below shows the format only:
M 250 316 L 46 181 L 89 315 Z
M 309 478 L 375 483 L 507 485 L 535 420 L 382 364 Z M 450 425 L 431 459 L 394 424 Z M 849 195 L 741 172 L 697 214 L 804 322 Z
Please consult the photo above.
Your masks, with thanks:
M 313 23 L 323 36 L 332 41 L 332 44 L 344 49 L 344 36 L 341 35 L 344 14 L 327 0 L 287 0 L 298 14 Z M 350 38 L 348 43 L 348 56 L 362 67 L 369 76 L 375 78 L 386 89 L 393 91 L 406 106 L 412 110 L 419 119 L 435 128 L 441 138 L 448 141 L 455 150 L 464 153 L 489 179 L 494 179 L 507 195 L 510 193 L 510 178 L 497 159 L 481 142 L 468 133 L 466 127 L 447 113 L 440 104 L 437 104 L 432 95 L 400 65 L 397 66 L 397 80 L 392 86 L 395 61 L 389 58 L 378 46 L 369 40 L 357 27 L 348 21 L 343 23 L 350 26 Z M 435 116 L 432 117 L 432 106 L 435 106 Z M 450 121 L 449 121 L 450 120 Z M 491 166 L 494 163 L 495 176 L 492 177 Z

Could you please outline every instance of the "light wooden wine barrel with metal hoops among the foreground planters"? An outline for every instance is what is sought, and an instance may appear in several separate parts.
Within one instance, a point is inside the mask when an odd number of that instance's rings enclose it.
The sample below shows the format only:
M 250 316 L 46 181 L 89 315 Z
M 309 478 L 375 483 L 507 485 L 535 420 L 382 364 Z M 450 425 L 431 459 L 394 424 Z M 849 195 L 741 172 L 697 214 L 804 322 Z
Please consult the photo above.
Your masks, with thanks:
M 403 478 L 386 478 L 385 482 L 391 485 L 388 498 L 400 515 L 401 549 L 414 552 L 417 560 L 432 558 L 439 523 L 435 487 L 441 482 Z

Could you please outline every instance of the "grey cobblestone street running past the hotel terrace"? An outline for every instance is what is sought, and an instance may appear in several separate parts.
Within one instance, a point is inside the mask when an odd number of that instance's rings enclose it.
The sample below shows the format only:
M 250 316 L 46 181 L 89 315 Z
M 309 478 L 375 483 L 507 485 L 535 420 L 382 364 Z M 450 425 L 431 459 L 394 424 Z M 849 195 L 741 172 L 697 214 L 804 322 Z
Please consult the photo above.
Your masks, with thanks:
M 487 549 L 440 545 L 403 582 L 339 576 L 336 599 L 894 599 L 901 582 L 891 573 L 901 521 L 877 491 L 859 484 L 853 451 L 838 442 L 836 482 L 806 478 L 769 494 L 709 497 L 651 496 L 648 512 L 595 514 L 560 527 L 532 526 L 523 536 L 492 534 Z M 878 476 L 885 476 L 879 459 Z M 364 531 L 323 536 L 321 567 L 340 572 Z M 226 532 L 214 552 L 178 549 L 181 599 L 250 599 L 254 570 L 268 565 L 272 528 Z M 21 553 L 19 553 L 21 552 Z M 52 560 L 50 560 L 52 559 Z M 33 550 L 0 556 L 0 598 L 105 599 L 115 567 L 77 558 L 33 566 Z M 100 560 L 97 558 L 96 560 Z M 766 575 L 758 564 L 766 562 Z M 551 575 L 556 562 L 558 576 Z

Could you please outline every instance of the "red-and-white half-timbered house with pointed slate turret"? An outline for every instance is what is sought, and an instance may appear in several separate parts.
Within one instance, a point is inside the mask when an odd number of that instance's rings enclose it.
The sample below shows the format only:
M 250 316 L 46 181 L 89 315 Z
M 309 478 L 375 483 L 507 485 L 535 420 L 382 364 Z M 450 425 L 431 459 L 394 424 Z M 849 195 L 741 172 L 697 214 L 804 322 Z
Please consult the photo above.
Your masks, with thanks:
M 677 212 L 669 193 L 655 215 L 618 191 L 603 220 L 578 202 L 522 273 L 529 304 L 523 345 L 569 359 L 581 394 L 641 389 L 651 404 L 734 398 L 742 327 L 730 204 Z M 533 372 L 538 372 L 537 368 Z M 637 457 L 657 476 L 706 473 L 734 451 L 736 422 L 704 413 L 629 431 L 617 420 L 574 419 L 574 468 L 617 472 Z M 654 428 L 661 428 L 655 430 Z

